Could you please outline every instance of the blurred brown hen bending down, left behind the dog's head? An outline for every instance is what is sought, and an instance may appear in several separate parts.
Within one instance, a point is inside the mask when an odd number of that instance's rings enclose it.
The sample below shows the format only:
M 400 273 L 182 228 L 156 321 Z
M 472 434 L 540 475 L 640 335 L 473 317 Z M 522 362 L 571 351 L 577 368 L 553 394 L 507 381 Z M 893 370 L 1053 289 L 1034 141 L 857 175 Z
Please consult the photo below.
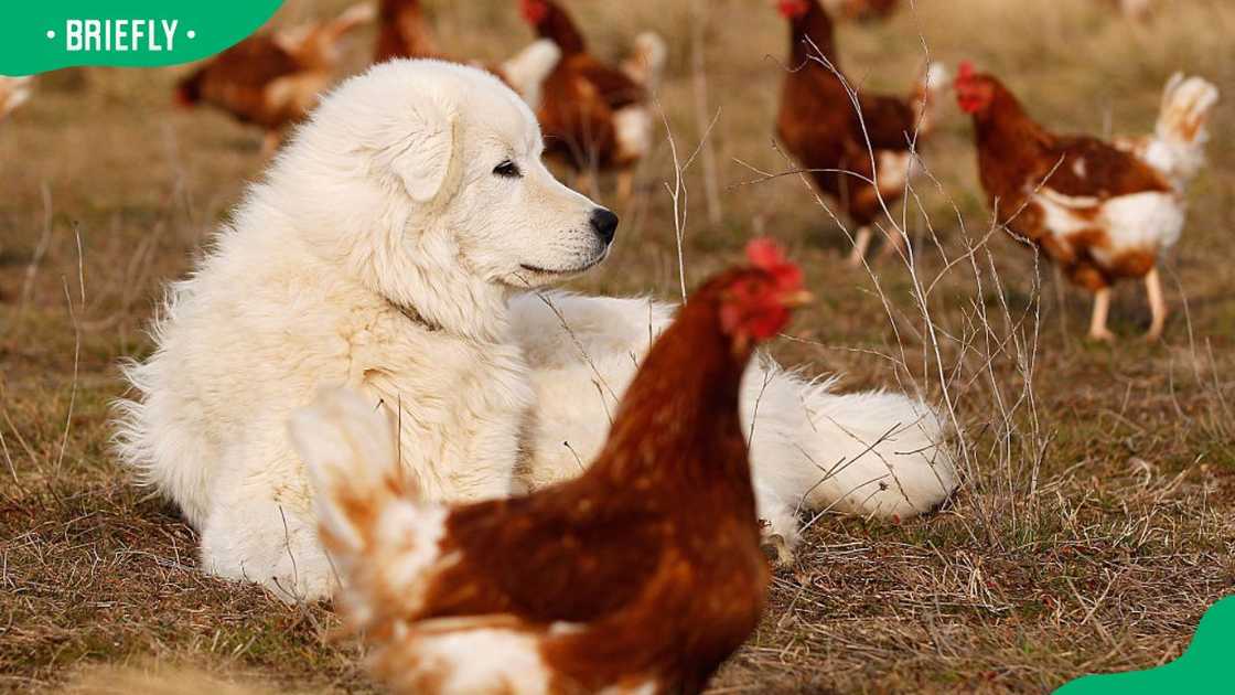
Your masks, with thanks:
M 356 5 L 333 20 L 246 38 L 182 79 L 177 101 L 210 104 L 261 126 L 262 152 L 269 156 L 333 80 L 341 40 L 373 17 L 372 5 Z

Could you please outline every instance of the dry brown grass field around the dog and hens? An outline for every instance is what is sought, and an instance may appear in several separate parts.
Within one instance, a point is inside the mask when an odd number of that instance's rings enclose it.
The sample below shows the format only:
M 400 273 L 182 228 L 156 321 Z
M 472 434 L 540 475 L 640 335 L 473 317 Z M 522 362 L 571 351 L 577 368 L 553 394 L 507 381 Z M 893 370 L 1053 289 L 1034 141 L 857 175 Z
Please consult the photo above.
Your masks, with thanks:
M 343 4 L 291 0 L 277 21 Z M 429 5 L 456 54 L 500 57 L 529 38 L 513 1 Z M 783 240 L 819 301 L 774 354 L 844 373 L 844 388 L 921 393 L 960 430 L 965 484 L 939 514 L 810 524 L 716 691 L 1042 691 L 1178 655 L 1235 587 L 1229 105 L 1162 263 L 1165 341 L 1139 340 L 1149 310 L 1128 284 L 1112 323 L 1123 340 L 1091 345 L 1088 298 L 992 230 L 955 106 L 923 147 L 930 176 L 895 208 L 913 263 L 853 271 L 845 234 L 803 181 L 768 176 L 789 164 L 772 140 L 788 40 L 767 2 L 572 5 L 597 53 L 619 54 L 642 27 L 669 38 L 661 103 L 680 161 L 715 119 L 710 157 L 685 171 L 679 198 L 687 282 L 735 260 L 756 231 Z M 929 49 L 1003 75 L 1065 131 L 1147 131 L 1176 69 L 1235 98 L 1225 0 L 1165 2 L 1145 26 L 1099 2 L 916 5 L 841 28 L 842 67 L 862 89 L 906 92 Z M 354 69 L 369 36 L 353 43 Z M 177 74 L 47 75 L 0 125 L 0 688 L 58 688 L 86 665 L 130 664 L 369 690 L 361 648 L 336 634 L 329 607 L 204 575 L 194 532 L 109 451 L 117 360 L 149 350 L 143 326 L 162 284 L 190 268 L 263 166 L 258 134 L 172 108 Z M 677 176 L 662 140 L 619 210 L 611 260 L 574 288 L 677 296 Z

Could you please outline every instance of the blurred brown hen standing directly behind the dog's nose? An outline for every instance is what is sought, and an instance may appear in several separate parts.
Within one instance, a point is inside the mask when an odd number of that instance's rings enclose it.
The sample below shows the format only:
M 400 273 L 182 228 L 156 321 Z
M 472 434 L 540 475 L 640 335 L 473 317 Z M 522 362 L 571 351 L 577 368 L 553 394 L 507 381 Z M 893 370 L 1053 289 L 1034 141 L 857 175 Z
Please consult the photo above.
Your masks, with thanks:
M 520 0 L 524 19 L 562 49 L 537 110 L 546 152 L 579 172 L 576 187 L 590 189 L 599 171 L 618 172 L 618 197 L 634 189 L 635 167 L 652 147 L 650 90 L 664 66 L 664 41 L 645 32 L 622 68 L 588 52 L 583 33 L 558 2 Z

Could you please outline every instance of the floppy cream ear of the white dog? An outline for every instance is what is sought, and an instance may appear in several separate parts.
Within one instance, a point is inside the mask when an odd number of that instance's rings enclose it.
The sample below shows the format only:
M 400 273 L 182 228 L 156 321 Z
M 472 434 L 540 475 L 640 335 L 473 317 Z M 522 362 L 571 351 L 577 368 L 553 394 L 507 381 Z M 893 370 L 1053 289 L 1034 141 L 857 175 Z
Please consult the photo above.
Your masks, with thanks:
M 412 200 L 431 203 L 453 193 L 459 169 L 457 122 L 451 114 L 416 114 L 412 131 L 391 153 L 390 169 Z

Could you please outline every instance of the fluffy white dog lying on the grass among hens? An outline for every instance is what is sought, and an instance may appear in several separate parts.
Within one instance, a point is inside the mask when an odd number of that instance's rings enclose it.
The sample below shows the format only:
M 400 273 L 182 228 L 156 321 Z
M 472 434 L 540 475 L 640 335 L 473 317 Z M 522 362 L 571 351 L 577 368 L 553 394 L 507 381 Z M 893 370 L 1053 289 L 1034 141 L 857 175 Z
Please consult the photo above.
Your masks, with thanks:
M 384 404 L 427 495 L 574 475 L 671 308 L 535 289 L 601 262 L 616 216 L 541 164 L 536 120 L 493 77 L 396 61 L 327 96 L 172 287 L 130 365 L 125 460 L 200 531 L 211 573 L 331 591 L 285 423 L 322 386 Z M 834 396 L 776 365 L 746 380 L 761 513 L 911 516 L 955 487 L 944 427 L 902 396 Z

